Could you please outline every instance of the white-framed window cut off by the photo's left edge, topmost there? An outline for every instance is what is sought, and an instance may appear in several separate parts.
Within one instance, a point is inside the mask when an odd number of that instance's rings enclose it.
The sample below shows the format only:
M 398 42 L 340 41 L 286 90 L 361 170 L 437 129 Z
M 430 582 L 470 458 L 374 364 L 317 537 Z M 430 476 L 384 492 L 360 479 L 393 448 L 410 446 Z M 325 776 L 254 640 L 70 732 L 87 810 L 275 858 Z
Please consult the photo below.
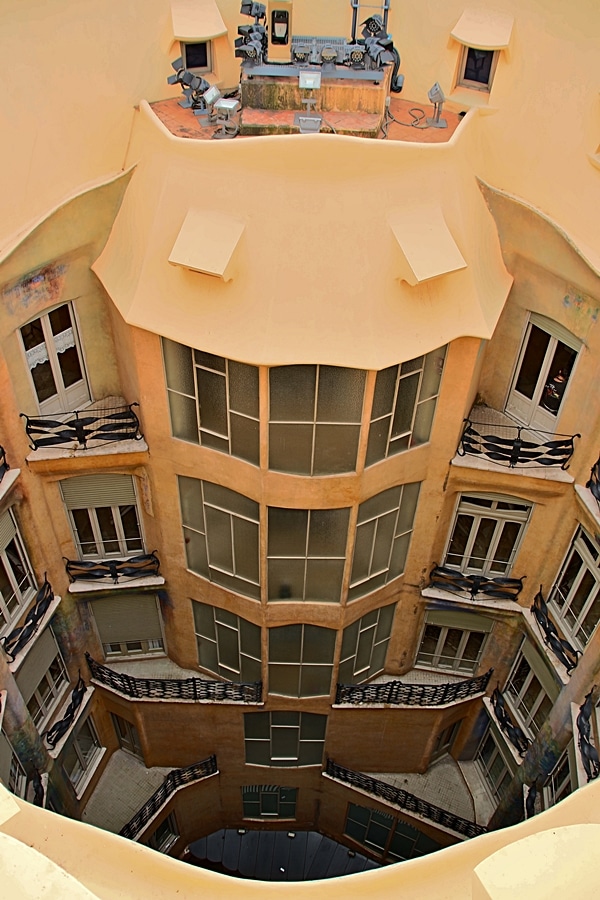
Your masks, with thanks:
M 0 516 L 0 635 L 17 621 L 35 593 L 35 579 L 12 513 Z

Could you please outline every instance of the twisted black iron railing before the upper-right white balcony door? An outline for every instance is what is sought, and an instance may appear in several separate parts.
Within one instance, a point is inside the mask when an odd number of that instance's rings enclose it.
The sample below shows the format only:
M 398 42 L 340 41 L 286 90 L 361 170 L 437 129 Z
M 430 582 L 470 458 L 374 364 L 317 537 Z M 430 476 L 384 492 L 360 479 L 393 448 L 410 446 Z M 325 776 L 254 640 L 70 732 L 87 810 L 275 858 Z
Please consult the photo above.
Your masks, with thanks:
M 537 429 L 534 435 L 520 425 L 472 419 L 465 419 L 464 422 L 458 455 L 484 456 L 510 469 L 517 466 L 529 468 L 560 466 L 561 469 L 566 469 L 575 450 L 575 438 L 581 437 L 580 434 L 553 434 Z M 534 437 L 539 437 L 539 440 L 534 440 Z

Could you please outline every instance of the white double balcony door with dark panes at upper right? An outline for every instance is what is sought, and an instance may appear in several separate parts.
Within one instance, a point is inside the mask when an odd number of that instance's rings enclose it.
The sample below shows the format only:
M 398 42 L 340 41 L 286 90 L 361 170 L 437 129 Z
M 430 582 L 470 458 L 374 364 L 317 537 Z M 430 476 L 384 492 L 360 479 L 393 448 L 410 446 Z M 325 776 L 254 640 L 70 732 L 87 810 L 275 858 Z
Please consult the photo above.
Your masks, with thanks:
M 506 412 L 524 425 L 554 432 L 581 341 L 558 322 L 532 313 Z

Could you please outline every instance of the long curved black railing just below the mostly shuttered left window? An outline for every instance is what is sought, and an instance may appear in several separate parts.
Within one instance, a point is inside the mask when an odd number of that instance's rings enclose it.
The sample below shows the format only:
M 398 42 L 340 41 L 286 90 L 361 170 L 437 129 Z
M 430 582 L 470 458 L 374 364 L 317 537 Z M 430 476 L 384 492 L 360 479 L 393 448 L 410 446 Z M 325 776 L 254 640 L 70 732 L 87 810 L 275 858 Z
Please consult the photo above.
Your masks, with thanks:
M 260 703 L 262 681 L 204 681 L 202 678 L 134 678 L 115 672 L 86 653 L 92 678 L 132 700 L 228 700 L 232 703 Z

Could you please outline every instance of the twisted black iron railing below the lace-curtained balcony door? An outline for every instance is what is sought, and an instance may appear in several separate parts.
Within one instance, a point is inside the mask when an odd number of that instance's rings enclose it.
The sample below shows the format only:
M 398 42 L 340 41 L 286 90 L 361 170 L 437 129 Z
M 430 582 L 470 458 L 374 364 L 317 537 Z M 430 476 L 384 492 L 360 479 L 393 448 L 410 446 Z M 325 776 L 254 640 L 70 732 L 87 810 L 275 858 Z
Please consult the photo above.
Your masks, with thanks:
M 58 419 L 46 419 L 28 416 L 25 419 L 25 431 L 32 450 L 41 447 L 60 447 L 78 444 L 79 450 L 89 449 L 113 441 L 141 441 L 140 420 L 133 411 L 139 403 L 112 407 L 93 407 L 82 412 L 66 413 Z

